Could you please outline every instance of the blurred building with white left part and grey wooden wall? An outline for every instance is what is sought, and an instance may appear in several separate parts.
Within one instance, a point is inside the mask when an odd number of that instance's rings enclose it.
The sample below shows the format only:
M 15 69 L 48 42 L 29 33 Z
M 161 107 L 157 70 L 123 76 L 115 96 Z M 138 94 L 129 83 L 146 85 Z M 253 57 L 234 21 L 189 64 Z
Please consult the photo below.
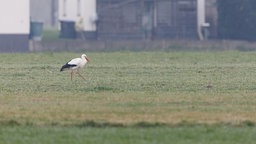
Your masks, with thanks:
M 58 9 L 61 34 L 97 31 L 99 39 L 204 40 L 210 26 L 205 0 L 59 0 Z

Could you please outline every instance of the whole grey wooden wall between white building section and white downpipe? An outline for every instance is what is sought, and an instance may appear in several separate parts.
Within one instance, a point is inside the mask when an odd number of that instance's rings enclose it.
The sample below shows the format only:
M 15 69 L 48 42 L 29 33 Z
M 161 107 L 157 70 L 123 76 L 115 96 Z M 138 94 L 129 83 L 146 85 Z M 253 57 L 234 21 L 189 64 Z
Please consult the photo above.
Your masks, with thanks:
M 197 0 L 98 0 L 98 37 L 198 39 L 197 6 Z

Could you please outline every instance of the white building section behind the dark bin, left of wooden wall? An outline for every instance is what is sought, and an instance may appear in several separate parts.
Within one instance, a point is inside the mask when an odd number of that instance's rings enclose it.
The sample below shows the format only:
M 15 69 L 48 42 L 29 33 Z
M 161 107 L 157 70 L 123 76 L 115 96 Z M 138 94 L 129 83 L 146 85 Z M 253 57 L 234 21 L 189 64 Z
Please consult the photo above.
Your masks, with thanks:
M 70 32 L 70 29 L 75 27 L 74 30 L 82 32 L 85 37 L 90 37 L 96 32 L 96 0 L 59 0 L 58 4 L 58 19 L 64 37 L 65 28 Z M 73 27 L 63 26 L 68 22 L 73 22 Z

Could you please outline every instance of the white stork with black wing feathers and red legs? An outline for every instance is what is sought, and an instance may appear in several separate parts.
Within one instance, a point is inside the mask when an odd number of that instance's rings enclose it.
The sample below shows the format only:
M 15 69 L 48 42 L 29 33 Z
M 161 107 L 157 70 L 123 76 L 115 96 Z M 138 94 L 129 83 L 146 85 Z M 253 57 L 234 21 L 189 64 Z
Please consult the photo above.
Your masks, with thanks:
M 67 62 L 65 65 L 63 65 L 60 71 L 70 69 L 70 77 L 72 80 L 74 70 L 77 69 L 77 74 L 85 80 L 85 78 L 80 74 L 80 69 L 83 68 L 87 62 L 89 62 L 88 57 L 86 56 L 86 54 L 82 54 L 81 58 L 74 58 Z

